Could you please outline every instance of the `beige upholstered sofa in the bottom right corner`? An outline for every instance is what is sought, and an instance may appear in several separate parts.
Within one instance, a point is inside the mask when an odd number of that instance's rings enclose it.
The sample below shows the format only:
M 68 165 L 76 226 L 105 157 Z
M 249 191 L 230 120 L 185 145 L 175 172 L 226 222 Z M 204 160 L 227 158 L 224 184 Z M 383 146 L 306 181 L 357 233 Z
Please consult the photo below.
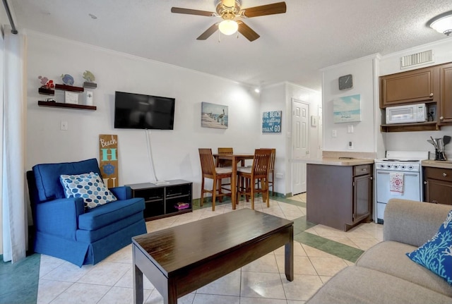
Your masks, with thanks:
M 384 214 L 383 242 L 328 280 L 307 303 L 451 304 L 452 285 L 405 255 L 429 241 L 451 209 L 391 199 Z

